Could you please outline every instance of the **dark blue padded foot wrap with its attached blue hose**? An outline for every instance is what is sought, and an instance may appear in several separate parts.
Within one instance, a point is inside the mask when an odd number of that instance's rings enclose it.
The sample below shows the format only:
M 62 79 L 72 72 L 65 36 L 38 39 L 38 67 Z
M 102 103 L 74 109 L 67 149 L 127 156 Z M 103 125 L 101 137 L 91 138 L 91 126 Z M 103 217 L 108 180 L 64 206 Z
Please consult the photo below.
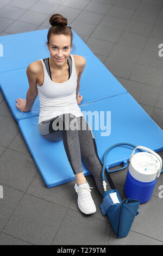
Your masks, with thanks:
M 120 194 L 118 193 L 118 190 L 116 190 L 114 183 L 112 182 L 111 176 L 105 167 L 106 154 L 109 152 L 110 149 L 116 147 L 117 145 L 130 145 L 131 147 L 136 147 L 135 145 L 130 143 L 118 143 L 106 150 L 104 154 L 104 163 L 102 168 L 102 180 L 104 187 L 103 202 L 99 207 L 103 215 L 108 215 L 112 229 L 115 231 L 115 234 L 119 239 L 128 235 L 135 216 L 139 214 L 137 210 L 139 209 L 140 200 L 128 198 L 122 201 Z M 127 165 L 124 164 L 124 167 L 121 169 L 124 169 L 126 167 Z M 113 172 L 117 171 L 118 170 L 114 170 Z M 109 191 L 106 191 L 104 173 L 106 173 L 111 187 L 111 190 Z

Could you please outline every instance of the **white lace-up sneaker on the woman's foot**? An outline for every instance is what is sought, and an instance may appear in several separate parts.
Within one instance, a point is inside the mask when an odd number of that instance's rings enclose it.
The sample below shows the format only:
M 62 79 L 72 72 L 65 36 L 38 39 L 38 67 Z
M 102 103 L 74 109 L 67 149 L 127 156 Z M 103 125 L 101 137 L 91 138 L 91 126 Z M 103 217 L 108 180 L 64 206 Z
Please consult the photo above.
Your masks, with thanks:
M 96 212 L 96 205 L 91 197 L 90 188 L 93 187 L 90 187 L 87 181 L 79 186 L 77 184 L 74 185 L 74 189 L 78 194 L 79 209 L 84 214 L 94 214 Z

